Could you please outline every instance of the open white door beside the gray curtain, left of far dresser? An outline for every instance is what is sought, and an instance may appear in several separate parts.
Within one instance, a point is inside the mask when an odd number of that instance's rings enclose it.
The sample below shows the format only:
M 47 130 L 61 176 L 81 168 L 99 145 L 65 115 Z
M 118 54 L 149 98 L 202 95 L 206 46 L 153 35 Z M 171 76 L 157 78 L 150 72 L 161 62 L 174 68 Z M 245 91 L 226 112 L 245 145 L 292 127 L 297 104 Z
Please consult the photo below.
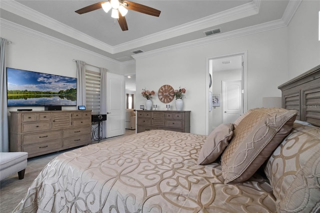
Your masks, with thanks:
M 106 137 L 124 134 L 124 76 L 107 72 Z

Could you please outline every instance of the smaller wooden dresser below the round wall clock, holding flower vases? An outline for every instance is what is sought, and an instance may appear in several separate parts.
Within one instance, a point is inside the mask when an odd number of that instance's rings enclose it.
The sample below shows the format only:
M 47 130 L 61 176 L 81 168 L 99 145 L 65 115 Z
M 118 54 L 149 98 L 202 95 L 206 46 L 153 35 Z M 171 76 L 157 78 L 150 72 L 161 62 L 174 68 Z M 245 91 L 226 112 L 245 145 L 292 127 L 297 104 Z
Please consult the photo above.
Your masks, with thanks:
M 151 129 L 190 132 L 190 111 L 137 110 L 137 132 Z

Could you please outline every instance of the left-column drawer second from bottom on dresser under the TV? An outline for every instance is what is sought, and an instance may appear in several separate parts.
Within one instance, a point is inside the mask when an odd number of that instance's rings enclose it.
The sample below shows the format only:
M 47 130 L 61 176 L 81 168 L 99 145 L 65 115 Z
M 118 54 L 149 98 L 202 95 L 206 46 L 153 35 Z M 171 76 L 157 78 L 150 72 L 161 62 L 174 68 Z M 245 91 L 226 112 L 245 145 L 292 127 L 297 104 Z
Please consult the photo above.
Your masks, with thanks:
M 42 142 L 47 140 L 59 139 L 59 138 L 62 138 L 61 130 L 47 131 L 47 132 L 35 133 L 35 134 L 23 134 L 22 144 L 25 145 L 25 144 Z

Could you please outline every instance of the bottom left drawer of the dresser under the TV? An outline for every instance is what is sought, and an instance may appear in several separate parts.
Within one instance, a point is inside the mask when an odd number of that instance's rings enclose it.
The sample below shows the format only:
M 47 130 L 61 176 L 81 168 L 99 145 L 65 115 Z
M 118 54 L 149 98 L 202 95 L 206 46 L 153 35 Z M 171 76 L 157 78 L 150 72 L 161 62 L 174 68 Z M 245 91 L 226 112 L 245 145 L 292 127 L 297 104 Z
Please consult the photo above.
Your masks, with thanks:
M 22 146 L 22 151 L 28 152 L 28 156 L 32 156 L 35 153 L 46 153 L 51 150 L 61 148 L 61 139 L 57 139 L 50 142 L 41 142 L 33 145 Z

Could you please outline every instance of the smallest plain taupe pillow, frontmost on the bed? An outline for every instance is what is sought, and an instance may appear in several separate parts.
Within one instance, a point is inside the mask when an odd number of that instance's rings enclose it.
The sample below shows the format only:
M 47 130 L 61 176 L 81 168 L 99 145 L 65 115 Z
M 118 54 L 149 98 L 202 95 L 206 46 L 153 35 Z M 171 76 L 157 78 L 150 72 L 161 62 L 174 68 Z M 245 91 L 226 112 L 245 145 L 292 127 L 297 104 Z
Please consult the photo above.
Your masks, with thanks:
M 205 165 L 215 161 L 229 144 L 233 133 L 233 124 L 220 124 L 205 139 L 200 150 L 197 164 Z

